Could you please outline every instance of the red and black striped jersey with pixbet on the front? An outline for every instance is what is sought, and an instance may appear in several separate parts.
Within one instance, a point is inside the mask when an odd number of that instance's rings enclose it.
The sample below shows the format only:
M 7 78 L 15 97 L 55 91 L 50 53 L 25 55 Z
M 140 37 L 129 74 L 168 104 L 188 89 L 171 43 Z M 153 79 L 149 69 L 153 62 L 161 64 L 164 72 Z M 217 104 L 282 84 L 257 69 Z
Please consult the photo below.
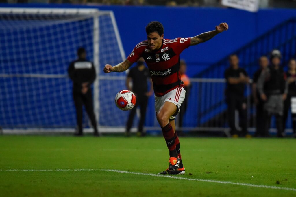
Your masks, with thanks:
M 161 47 L 155 51 L 148 46 L 147 40 L 140 42 L 128 56 L 132 63 L 143 57 L 150 71 L 156 96 L 184 86 L 181 81 L 180 53 L 190 46 L 190 38 L 163 39 Z

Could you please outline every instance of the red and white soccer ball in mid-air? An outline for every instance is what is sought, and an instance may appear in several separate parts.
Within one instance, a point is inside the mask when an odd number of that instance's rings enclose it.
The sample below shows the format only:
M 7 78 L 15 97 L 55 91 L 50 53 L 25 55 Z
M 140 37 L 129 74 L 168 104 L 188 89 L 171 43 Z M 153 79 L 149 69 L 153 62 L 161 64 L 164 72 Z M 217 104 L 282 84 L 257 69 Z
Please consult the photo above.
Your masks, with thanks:
M 115 104 L 121 110 L 131 110 L 136 105 L 136 96 L 132 91 L 122 90 L 116 94 Z

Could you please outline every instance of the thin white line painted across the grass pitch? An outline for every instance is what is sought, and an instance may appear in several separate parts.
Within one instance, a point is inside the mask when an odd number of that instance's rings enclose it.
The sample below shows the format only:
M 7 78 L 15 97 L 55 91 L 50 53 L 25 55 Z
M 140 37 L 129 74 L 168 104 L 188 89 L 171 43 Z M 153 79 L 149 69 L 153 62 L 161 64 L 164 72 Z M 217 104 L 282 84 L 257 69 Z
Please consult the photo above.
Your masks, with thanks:
M 195 178 L 184 178 L 180 177 L 180 175 L 158 175 L 158 174 L 150 174 L 150 173 L 137 173 L 137 172 L 130 172 L 124 170 L 110 170 L 110 169 L 44 169 L 44 170 L 34 170 L 34 169 L 0 169 L 1 171 L 31 171 L 31 172 L 43 172 L 43 171 L 110 171 L 110 172 L 117 172 L 123 174 L 136 174 L 136 175 L 145 175 L 145 176 L 154 176 L 154 177 L 161 177 L 161 178 L 171 178 L 171 179 L 180 179 L 180 180 L 191 180 L 191 181 L 200 181 L 200 182 L 209 182 L 209 183 L 220 183 L 220 184 L 230 184 L 230 185 L 241 185 L 247 187 L 255 187 L 255 188 L 266 188 L 266 189 L 280 189 L 280 190 L 290 190 L 296 191 L 296 188 L 286 188 L 286 187 L 277 187 L 277 186 L 268 186 L 268 185 L 253 185 L 249 183 L 234 183 L 230 181 L 218 181 L 218 180 L 210 180 L 210 179 L 195 179 Z

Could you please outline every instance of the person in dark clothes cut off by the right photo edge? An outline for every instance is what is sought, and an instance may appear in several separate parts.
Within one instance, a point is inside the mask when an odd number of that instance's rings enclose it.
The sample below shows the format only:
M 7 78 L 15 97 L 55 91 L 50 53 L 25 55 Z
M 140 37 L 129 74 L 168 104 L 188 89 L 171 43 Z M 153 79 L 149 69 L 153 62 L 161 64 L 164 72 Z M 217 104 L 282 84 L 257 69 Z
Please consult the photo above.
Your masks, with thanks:
M 283 131 L 286 128 L 286 122 L 288 118 L 289 109 L 291 109 L 292 115 L 292 128 L 293 128 L 293 137 L 296 137 L 296 60 L 291 59 L 289 61 L 289 70 L 287 72 L 287 81 L 286 88 L 288 89 L 287 99 L 284 101 L 284 122 L 283 122 Z M 294 106 L 294 107 L 293 107 Z

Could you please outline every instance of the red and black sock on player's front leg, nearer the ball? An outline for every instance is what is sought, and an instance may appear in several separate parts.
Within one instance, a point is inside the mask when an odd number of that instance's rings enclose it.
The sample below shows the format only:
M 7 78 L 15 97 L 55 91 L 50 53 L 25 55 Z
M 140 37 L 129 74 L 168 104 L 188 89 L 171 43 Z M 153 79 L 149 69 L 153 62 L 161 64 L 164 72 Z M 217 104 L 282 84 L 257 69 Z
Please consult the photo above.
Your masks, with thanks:
M 163 137 L 165 138 L 168 150 L 170 151 L 170 157 L 178 157 L 178 153 L 176 151 L 174 129 L 172 125 L 168 123 L 165 127 L 161 127 L 161 129 L 163 131 Z

